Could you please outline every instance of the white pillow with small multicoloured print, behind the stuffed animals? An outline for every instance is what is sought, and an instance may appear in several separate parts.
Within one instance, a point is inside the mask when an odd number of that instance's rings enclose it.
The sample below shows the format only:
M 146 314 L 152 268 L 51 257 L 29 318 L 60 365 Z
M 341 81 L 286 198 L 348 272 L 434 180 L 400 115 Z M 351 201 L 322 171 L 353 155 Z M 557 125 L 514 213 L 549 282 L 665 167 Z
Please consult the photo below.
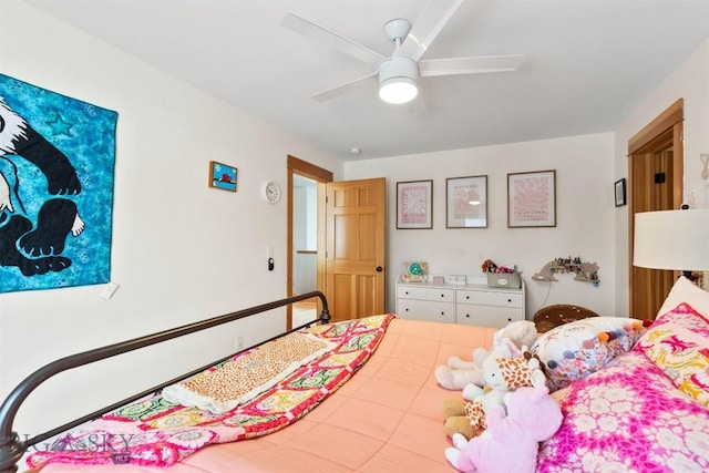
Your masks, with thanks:
M 547 384 L 555 391 L 630 351 L 650 323 L 625 317 L 576 320 L 540 336 L 531 351 L 546 364 Z

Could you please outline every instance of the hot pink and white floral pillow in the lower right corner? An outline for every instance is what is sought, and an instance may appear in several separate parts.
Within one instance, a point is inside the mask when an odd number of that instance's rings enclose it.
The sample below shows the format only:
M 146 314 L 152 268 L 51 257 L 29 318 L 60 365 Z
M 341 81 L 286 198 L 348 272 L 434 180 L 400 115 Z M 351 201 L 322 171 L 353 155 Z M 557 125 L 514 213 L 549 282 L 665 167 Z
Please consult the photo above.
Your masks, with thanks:
M 681 325 L 709 333 L 703 328 L 709 321 L 687 305 L 658 322 L 665 323 L 658 329 Z M 676 371 L 648 358 L 649 340 L 653 333 L 603 370 L 554 393 L 564 422 L 542 445 L 538 472 L 709 471 L 709 410 L 677 389 Z M 676 339 L 661 341 L 674 353 L 689 349 Z M 707 346 L 697 348 L 702 352 Z

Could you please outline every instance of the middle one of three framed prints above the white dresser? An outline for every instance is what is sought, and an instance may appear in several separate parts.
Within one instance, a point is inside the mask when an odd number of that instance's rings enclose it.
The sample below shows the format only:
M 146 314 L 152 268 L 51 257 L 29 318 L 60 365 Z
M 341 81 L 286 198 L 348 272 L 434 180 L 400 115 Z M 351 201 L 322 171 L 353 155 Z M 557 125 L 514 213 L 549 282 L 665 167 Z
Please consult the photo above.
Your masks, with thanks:
M 445 179 L 445 228 L 487 227 L 487 176 Z

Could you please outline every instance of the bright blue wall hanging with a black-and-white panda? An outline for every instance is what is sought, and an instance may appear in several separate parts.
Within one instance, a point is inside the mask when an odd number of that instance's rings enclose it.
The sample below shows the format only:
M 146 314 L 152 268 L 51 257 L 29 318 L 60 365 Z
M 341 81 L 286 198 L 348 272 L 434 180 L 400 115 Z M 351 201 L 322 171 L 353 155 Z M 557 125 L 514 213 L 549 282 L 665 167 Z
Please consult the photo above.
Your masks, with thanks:
M 0 74 L 0 292 L 110 280 L 116 121 Z

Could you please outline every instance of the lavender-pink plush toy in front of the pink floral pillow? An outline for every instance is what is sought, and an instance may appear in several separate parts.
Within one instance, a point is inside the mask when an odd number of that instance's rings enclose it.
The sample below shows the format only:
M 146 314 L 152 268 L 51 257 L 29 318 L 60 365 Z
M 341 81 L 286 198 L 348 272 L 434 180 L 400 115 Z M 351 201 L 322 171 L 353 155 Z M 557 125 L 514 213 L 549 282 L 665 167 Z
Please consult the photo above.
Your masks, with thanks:
M 562 421 L 562 409 L 548 388 L 518 388 L 504 395 L 504 408 L 491 408 L 481 435 L 472 440 L 453 435 L 445 459 L 465 473 L 534 473 L 538 443 L 551 439 Z

